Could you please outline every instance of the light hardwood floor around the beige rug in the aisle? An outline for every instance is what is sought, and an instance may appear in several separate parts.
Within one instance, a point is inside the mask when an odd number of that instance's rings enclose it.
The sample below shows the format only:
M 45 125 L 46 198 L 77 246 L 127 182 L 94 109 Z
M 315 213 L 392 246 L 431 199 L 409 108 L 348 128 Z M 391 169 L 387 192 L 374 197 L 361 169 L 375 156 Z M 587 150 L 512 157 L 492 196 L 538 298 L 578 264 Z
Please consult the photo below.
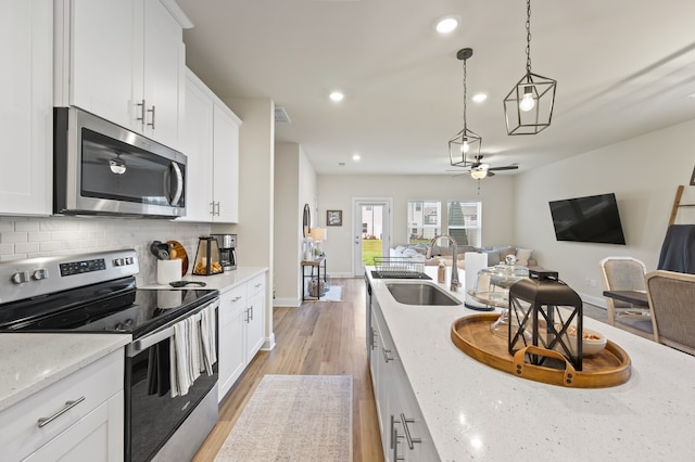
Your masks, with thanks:
M 342 301 L 305 301 L 299 308 L 273 310 L 276 347 L 260 351 L 223 400 L 217 425 L 194 461 L 215 458 L 265 374 L 352 375 L 353 460 L 383 461 L 366 356 L 365 283 L 362 278 L 331 283 L 342 286 Z

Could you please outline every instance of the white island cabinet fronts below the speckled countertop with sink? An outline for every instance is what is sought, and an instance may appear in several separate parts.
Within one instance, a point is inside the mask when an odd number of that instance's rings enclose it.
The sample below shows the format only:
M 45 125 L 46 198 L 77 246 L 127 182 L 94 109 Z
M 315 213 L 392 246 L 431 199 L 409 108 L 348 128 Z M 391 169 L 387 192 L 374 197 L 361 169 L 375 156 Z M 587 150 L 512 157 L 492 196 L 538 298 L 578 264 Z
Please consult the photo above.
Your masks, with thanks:
M 376 300 L 368 312 L 372 337 L 369 368 L 384 461 L 438 461 L 432 437 Z

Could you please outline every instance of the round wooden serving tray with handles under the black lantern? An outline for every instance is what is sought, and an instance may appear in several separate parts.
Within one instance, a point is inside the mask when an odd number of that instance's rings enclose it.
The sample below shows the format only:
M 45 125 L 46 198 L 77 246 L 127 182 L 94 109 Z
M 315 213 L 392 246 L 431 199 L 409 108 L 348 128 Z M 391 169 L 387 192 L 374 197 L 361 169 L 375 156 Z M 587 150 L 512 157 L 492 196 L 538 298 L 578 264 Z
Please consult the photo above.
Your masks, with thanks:
M 458 349 L 483 364 L 546 384 L 574 388 L 605 388 L 621 385 L 630 378 L 630 357 L 610 341 L 606 342 L 603 351 L 583 358 L 582 371 L 576 371 L 559 352 L 535 346 L 520 349 L 513 357 L 507 349 L 507 341 L 490 331 L 490 325 L 498 317 L 497 313 L 486 313 L 457 319 L 452 324 L 452 342 Z M 530 364 L 525 360 L 527 354 L 558 359 L 565 363 L 565 370 Z

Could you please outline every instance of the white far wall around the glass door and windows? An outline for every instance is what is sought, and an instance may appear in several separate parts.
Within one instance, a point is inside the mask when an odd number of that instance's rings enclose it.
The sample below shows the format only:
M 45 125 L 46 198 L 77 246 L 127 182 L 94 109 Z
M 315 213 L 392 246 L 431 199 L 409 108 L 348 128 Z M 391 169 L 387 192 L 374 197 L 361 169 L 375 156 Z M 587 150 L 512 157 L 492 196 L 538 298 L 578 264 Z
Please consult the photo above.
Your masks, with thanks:
M 343 226 L 329 227 L 324 242 L 327 270 L 331 277 L 350 277 L 354 268 L 352 252 L 353 197 L 391 197 L 393 200 L 391 246 L 407 242 L 407 202 L 435 200 L 442 202 L 445 214 L 447 201 L 482 202 L 482 245 L 518 244 L 514 242 L 514 176 L 496 175 L 478 181 L 468 176 L 318 176 L 318 209 L 321 223 L 326 210 L 343 210 Z M 478 191 L 480 185 L 480 191 Z

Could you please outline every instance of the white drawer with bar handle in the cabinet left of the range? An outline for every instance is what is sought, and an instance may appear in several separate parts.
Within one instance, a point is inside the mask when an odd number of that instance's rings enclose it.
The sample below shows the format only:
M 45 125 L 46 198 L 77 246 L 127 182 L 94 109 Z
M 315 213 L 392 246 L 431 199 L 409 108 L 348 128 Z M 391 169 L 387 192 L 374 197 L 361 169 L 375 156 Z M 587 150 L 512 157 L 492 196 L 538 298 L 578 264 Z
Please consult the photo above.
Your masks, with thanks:
M 0 460 L 21 460 L 123 389 L 124 352 L 116 350 L 0 413 Z M 83 399 L 84 398 L 84 399 Z M 39 419 L 70 410 L 39 427 Z

